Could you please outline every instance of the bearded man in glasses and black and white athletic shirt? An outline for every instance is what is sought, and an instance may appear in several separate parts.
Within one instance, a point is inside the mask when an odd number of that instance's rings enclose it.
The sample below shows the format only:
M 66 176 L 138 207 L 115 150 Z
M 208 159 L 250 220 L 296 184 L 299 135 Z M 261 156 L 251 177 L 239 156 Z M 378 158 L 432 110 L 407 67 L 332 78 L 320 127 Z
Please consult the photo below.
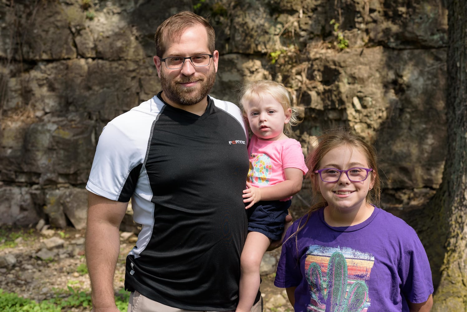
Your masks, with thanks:
M 163 91 L 106 125 L 86 185 L 93 311 L 118 311 L 113 276 L 130 198 L 142 231 L 127 256 L 128 311 L 234 311 L 248 132 L 237 106 L 207 95 L 219 60 L 209 23 L 184 11 L 155 38 Z M 258 294 L 252 311 L 261 310 Z

